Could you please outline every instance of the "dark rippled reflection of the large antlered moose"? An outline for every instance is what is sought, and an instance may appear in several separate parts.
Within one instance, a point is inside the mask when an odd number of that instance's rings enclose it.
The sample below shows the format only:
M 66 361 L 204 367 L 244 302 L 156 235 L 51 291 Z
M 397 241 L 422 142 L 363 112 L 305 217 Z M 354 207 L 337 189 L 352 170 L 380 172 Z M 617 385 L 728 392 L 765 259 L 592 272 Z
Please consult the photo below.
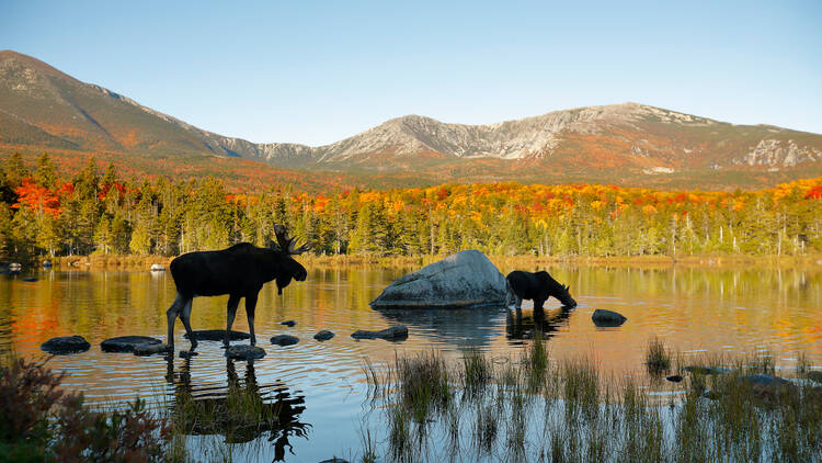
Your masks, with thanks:
M 285 450 L 294 454 L 290 437 L 308 438 L 311 425 L 299 421 L 306 409 L 305 396 L 292 394 L 283 385 L 259 386 L 253 361 L 247 362 L 240 380 L 235 361 L 226 359 L 228 387 L 193 386 L 192 359 L 174 372 L 168 361 L 165 380 L 173 386 L 170 408 L 175 427 L 190 436 L 224 436 L 228 443 L 244 443 L 267 434 L 274 445 L 274 461 L 285 460 Z

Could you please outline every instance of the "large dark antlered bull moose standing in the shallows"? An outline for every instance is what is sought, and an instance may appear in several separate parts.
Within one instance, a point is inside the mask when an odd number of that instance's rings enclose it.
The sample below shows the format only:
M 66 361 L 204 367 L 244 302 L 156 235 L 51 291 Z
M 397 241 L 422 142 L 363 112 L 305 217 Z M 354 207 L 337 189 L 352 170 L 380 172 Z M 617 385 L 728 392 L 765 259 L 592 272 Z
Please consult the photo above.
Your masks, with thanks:
M 235 323 L 240 297 L 246 297 L 246 315 L 249 318 L 251 345 L 254 337 L 254 307 L 256 296 L 263 284 L 276 280 L 277 294 L 292 279 L 304 281 L 306 269 L 292 256 L 301 255 L 309 247 L 297 249 L 294 239 L 288 238 L 285 227 L 274 226 L 279 248 L 258 248 L 249 242 L 241 242 L 221 251 L 198 251 L 182 255 L 171 261 L 171 276 L 176 285 L 176 298 L 165 313 L 169 325 L 169 346 L 174 347 L 174 321 L 183 320 L 185 332 L 191 340 L 192 349 L 197 346 L 191 329 L 191 305 L 195 296 L 218 296 L 228 294 L 228 316 L 224 343 L 228 346 L 231 325 Z

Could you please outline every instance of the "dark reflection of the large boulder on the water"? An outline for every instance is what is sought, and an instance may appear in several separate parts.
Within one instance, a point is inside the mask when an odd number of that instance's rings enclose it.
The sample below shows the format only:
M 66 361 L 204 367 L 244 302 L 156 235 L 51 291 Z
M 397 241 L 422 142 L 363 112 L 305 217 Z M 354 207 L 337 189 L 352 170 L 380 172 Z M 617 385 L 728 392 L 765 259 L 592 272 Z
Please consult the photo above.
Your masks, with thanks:
M 412 335 L 432 336 L 458 347 L 482 347 L 496 336 L 505 317 L 502 306 L 478 308 L 414 308 L 376 310 L 408 326 Z

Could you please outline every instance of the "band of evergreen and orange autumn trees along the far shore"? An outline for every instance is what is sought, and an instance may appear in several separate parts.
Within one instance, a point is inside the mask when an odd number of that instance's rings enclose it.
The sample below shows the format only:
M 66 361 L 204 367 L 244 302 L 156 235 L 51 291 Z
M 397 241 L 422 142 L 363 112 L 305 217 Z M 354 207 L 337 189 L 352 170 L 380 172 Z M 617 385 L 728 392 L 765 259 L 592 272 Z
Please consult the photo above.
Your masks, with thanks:
M 265 246 L 284 224 L 324 255 L 806 255 L 822 250 L 822 178 L 760 191 L 600 184 L 443 184 L 233 194 L 215 178 L 123 180 L 94 158 L 57 172 L 47 154 L 0 171 L 0 256 L 163 255 Z

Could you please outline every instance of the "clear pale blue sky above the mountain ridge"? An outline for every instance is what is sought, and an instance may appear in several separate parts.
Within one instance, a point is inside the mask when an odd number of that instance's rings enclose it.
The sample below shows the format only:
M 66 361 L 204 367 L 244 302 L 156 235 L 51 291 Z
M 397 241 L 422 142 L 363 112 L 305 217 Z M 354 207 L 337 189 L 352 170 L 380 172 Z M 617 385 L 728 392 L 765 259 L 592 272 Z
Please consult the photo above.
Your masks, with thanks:
M 252 142 L 626 101 L 822 133 L 819 0 L 0 0 L 0 49 Z

